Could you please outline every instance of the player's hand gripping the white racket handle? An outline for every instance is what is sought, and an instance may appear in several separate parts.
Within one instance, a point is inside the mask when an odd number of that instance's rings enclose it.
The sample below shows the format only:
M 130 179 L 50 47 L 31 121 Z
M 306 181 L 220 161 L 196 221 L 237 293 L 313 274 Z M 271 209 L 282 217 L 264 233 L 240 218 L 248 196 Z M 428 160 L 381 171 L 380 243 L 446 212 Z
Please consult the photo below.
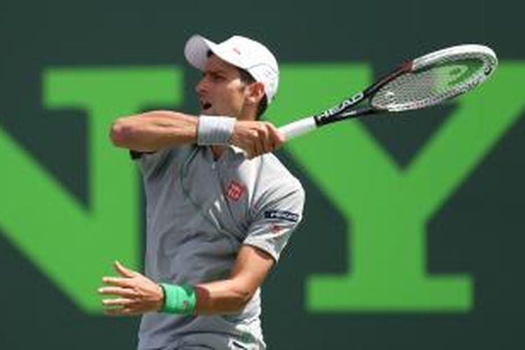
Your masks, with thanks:
M 275 151 L 284 141 L 284 135 L 272 123 L 238 120 L 230 144 L 242 148 L 251 159 Z

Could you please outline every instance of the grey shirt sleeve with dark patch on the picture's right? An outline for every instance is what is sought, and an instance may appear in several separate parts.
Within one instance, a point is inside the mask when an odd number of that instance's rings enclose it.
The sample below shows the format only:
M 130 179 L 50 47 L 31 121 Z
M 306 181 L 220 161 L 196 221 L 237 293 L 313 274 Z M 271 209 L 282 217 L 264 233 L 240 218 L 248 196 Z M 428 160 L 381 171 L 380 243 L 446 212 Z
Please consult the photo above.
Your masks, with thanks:
M 255 209 L 253 223 L 243 244 L 262 249 L 277 262 L 292 232 L 302 220 L 304 190 L 299 183 L 281 195 L 274 195 Z

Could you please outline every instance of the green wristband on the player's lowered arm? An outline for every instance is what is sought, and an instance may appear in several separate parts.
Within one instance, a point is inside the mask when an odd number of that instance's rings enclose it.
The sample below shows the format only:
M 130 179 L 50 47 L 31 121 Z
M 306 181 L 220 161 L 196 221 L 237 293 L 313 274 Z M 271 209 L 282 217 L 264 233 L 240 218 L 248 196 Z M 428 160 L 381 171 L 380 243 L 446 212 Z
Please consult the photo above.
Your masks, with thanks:
M 195 295 L 195 288 L 189 284 L 181 286 L 177 284 L 160 283 L 164 293 L 164 303 L 160 312 L 165 314 L 195 314 L 195 307 L 197 306 L 197 295 Z

